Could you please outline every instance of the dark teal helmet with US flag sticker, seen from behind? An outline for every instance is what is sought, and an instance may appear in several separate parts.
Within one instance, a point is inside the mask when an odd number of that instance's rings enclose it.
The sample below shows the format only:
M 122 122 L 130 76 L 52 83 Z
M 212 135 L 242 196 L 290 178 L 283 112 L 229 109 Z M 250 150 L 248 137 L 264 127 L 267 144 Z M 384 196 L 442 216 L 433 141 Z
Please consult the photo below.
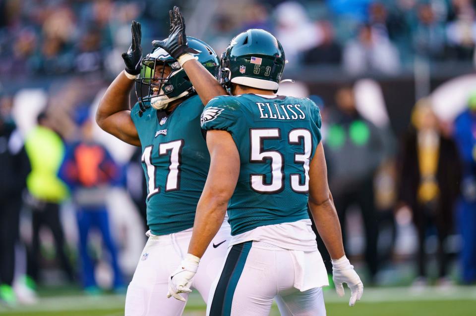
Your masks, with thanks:
M 269 32 L 250 29 L 238 34 L 221 57 L 219 81 L 231 84 L 278 90 L 286 58 L 283 46 Z

